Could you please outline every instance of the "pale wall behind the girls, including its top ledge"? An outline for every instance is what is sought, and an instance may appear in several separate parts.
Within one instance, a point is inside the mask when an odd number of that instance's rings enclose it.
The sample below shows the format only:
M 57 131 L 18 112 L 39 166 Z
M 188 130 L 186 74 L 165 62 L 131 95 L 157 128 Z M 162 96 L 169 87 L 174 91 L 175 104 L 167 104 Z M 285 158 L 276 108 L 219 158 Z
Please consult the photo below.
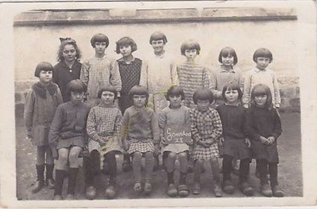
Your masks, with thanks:
M 149 37 L 162 31 L 168 39 L 166 51 L 180 59 L 180 46 L 189 38 L 199 41 L 197 60 L 214 69 L 218 53 L 231 46 L 238 54 L 237 66 L 243 72 L 254 67 L 254 51 L 260 47 L 273 53 L 270 68 L 278 77 L 282 96 L 281 110 L 300 111 L 296 32 L 300 30 L 294 8 L 203 7 L 161 9 L 53 9 L 30 10 L 14 20 L 15 104 L 21 112 L 26 92 L 34 80 L 40 61 L 56 63 L 59 37 L 72 37 L 82 51 L 81 60 L 93 55 L 90 38 L 105 33 L 109 40 L 106 53 L 114 52 L 115 41 L 130 36 L 138 50 L 133 54 L 146 59 L 153 49 Z M 159 72 L 158 72 L 159 73 Z

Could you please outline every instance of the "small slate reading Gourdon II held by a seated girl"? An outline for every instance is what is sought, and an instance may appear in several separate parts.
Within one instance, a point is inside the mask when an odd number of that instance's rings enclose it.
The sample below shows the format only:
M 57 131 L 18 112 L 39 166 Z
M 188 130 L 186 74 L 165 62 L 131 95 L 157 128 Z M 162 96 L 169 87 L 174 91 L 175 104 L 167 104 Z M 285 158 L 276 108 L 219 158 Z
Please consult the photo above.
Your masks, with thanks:
M 166 125 L 164 138 L 168 144 L 188 143 L 191 141 L 190 126 L 187 124 Z

